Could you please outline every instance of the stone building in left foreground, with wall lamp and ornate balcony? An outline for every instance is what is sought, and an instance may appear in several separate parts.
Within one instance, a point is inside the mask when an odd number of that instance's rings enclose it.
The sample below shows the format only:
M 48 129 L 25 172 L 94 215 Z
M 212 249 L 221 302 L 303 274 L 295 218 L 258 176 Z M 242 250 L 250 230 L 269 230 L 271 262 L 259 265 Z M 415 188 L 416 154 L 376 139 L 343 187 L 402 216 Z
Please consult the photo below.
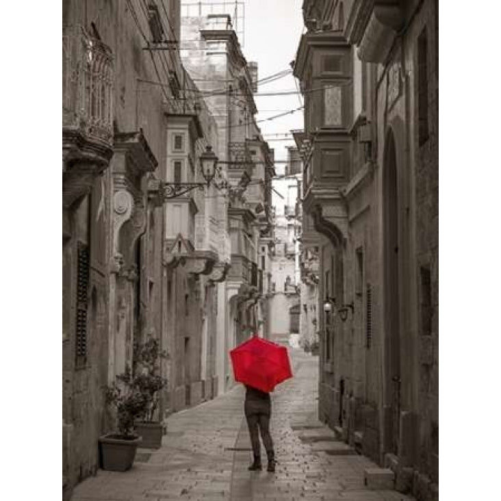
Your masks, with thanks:
M 218 389 L 228 194 L 201 156 L 216 120 L 175 47 L 180 2 L 63 2 L 63 488 L 98 467 L 105 387 L 154 336 L 165 412 Z M 187 191 L 183 192 L 188 188 Z M 192 189 L 196 188 L 196 189 Z

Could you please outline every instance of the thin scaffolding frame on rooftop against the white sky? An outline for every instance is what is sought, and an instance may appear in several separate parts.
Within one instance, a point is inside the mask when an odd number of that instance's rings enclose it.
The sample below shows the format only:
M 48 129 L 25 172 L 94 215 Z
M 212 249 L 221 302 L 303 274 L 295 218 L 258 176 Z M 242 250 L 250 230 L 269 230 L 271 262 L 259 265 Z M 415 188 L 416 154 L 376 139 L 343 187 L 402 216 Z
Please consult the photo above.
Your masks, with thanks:
M 245 1 L 181 1 L 181 18 L 224 15 L 231 16 L 231 25 L 242 47 L 245 46 Z

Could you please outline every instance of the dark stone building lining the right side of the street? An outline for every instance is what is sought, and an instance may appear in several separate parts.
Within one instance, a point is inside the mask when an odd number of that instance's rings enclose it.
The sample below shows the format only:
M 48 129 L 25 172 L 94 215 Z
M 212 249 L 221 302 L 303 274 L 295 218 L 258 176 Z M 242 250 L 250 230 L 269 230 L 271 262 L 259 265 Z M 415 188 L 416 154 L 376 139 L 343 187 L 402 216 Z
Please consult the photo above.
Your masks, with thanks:
M 320 235 L 320 417 L 435 499 L 437 1 L 305 0 L 303 18 L 294 136 Z

